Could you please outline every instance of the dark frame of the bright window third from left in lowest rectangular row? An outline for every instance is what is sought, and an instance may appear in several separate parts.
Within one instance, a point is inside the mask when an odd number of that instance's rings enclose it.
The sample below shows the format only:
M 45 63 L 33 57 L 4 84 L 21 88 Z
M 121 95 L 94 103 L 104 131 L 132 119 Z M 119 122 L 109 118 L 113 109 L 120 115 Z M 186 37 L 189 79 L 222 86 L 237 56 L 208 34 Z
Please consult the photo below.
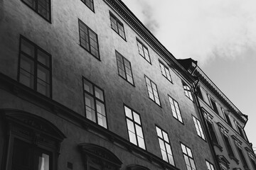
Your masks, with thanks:
M 129 117 L 126 115 L 125 107 L 127 107 L 129 110 L 131 110 L 132 119 L 129 118 Z M 137 123 L 137 122 L 134 120 L 134 113 L 137 113 L 137 115 L 139 115 L 139 120 L 140 120 L 141 125 L 139 125 L 139 123 Z M 130 141 L 130 137 L 129 137 L 129 129 L 128 129 L 128 124 L 127 124 L 127 119 L 130 120 L 130 121 L 133 123 L 133 125 L 134 125 L 134 131 L 135 131 L 135 136 L 136 136 L 136 141 L 137 141 L 137 145 L 136 145 L 136 146 L 137 146 L 137 147 L 140 147 L 140 146 L 139 146 L 138 135 L 137 135 L 137 129 L 136 129 L 136 126 L 135 126 L 135 125 L 138 125 L 140 128 L 143 127 L 141 115 L 140 115 L 137 111 L 134 111 L 133 108 L 131 108 L 131 107 L 127 106 L 126 104 L 124 104 L 124 116 L 125 116 L 125 123 L 126 123 L 126 125 L 127 125 L 127 133 L 128 133 L 129 142 L 131 142 L 131 141 Z M 145 147 L 145 148 L 143 148 L 143 147 L 140 147 L 140 148 L 146 150 L 146 142 L 145 142 L 145 137 L 144 137 L 145 135 L 144 135 L 144 130 L 143 130 L 143 128 L 142 128 L 142 135 L 143 135 L 143 142 L 144 142 L 144 147 Z M 131 142 L 131 143 L 134 144 L 133 142 Z M 134 144 L 134 145 L 135 145 L 135 144 Z

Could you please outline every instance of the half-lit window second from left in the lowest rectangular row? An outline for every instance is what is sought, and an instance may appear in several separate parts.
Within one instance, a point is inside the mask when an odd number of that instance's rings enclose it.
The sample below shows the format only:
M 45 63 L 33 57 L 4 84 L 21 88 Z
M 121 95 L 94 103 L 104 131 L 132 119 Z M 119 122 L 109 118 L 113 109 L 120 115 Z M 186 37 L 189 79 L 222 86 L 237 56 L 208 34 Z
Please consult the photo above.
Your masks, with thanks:
M 104 91 L 83 77 L 86 118 L 107 128 Z

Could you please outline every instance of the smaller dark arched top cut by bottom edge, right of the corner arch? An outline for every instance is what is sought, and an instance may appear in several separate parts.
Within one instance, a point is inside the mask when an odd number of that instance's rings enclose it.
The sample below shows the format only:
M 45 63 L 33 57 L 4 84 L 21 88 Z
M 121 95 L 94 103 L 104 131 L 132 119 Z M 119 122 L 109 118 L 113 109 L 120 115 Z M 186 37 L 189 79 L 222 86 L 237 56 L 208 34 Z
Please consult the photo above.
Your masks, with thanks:
M 91 143 L 79 145 L 85 170 L 118 170 L 122 162 L 110 150 Z

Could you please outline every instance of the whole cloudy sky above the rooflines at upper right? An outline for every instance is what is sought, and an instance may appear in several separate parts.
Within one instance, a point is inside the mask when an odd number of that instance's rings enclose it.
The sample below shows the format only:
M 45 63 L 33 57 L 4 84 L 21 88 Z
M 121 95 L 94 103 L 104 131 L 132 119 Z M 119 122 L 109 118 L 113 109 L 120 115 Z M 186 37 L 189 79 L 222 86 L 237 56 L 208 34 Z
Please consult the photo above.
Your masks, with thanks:
M 177 59 L 193 58 L 245 115 L 256 150 L 256 1 L 122 0 Z

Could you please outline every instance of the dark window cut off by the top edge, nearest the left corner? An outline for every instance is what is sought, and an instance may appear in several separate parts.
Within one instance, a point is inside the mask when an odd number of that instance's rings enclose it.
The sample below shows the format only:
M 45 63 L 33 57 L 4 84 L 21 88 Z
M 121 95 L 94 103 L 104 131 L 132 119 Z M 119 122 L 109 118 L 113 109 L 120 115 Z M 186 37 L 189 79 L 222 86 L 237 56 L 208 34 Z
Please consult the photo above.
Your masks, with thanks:
M 40 16 L 50 22 L 50 0 L 21 0 L 36 11 Z

